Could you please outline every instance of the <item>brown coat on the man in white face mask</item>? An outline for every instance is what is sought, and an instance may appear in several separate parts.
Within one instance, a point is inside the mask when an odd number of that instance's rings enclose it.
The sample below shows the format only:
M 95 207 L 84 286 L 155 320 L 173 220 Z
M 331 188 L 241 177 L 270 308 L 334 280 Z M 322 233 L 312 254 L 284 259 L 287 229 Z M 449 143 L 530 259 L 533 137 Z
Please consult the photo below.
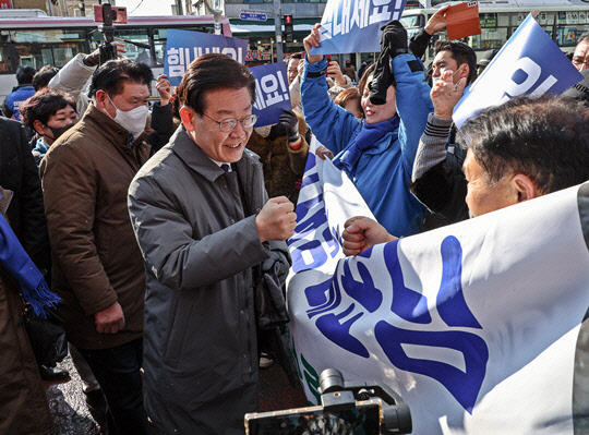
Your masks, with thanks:
M 52 289 L 69 340 L 108 349 L 142 337 L 145 270 L 127 209 L 149 146 L 93 104 L 49 148 L 40 174 L 53 258 Z M 98 334 L 94 314 L 119 302 L 125 327 Z

